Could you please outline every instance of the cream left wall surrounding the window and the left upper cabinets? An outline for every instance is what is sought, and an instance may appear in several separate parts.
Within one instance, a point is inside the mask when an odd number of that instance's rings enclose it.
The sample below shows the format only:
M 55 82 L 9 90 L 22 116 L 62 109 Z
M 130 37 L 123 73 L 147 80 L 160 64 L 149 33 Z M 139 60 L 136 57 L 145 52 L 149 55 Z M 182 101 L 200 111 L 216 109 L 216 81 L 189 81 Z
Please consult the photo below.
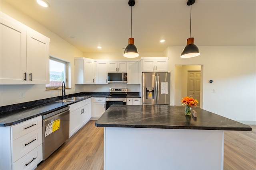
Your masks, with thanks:
M 71 89 L 66 90 L 66 94 L 81 92 L 83 88 L 75 88 L 74 84 L 74 57 L 83 57 L 84 53 L 58 37 L 38 22 L 19 12 L 5 1 L 0 1 L 1 12 L 31 27 L 32 29 L 50 38 L 50 55 L 70 62 L 71 66 Z M 25 98 L 19 98 L 19 93 L 24 92 Z M 61 90 L 45 90 L 45 84 L 38 85 L 1 85 L 0 86 L 0 106 L 40 100 L 61 96 Z

